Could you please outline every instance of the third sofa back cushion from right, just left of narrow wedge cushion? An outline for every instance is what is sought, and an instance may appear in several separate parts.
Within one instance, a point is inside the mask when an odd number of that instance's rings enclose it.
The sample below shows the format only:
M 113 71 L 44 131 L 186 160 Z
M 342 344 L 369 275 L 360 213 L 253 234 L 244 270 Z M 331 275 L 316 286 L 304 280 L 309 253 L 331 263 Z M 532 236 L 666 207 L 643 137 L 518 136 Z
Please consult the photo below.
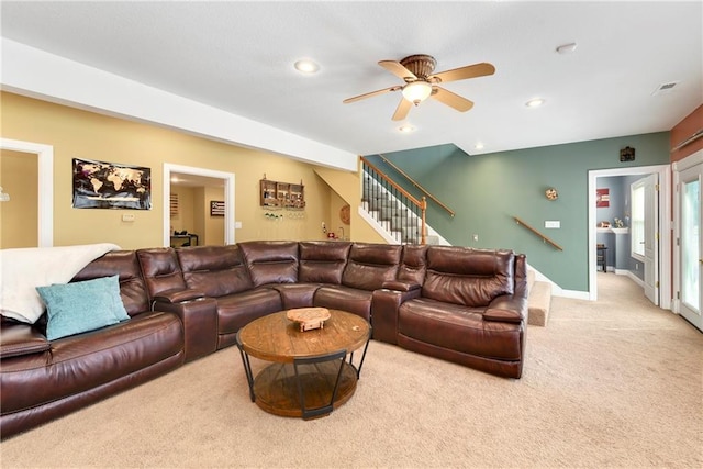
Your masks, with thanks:
M 398 244 L 354 243 L 349 249 L 342 284 L 360 290 L 378 290 L 395 280 L 403 246 Z

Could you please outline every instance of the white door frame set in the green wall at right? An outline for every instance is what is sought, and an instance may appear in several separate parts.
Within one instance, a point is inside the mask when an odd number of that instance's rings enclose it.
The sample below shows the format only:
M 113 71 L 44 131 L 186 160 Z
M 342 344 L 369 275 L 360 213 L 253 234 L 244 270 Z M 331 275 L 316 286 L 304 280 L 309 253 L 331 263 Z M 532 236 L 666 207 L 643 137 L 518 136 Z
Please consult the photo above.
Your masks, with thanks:
M 669 165 L 633 166 L 629 168 L 594 169 L 589 171 L 588 204 L 589 204 L 589 300 L 598 300 L 595 244 L 596 244 L 596 215 L 595 215 L 595 189 L 596 178 L 610 176 L 631 176 L 659 174 L 659 306 L 671 309 L 671 170 Z M 644 293 L 643 293 L 644 294 Z

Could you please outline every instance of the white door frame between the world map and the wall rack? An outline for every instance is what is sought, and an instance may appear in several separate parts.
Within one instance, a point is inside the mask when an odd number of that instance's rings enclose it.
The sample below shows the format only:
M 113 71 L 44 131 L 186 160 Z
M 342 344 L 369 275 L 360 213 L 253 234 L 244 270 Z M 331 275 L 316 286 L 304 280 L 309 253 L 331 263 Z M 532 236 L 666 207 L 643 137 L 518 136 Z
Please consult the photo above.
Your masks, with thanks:
M 164 247 L 171 245 L 171 174 L 204 176 L 224 180 L 224 243 L 234 244 L 234 172 L 164 163 Z

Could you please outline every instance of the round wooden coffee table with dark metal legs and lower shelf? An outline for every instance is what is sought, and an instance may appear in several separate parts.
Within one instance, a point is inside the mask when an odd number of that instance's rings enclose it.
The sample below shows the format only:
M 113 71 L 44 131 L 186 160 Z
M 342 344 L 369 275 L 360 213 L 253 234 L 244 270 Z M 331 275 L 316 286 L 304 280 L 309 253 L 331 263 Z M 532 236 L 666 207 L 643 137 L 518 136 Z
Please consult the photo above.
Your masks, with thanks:
M 370 337 L 364 317 L 339 310 L 330 310 L 323 328 L 304 332 L 287 311 L 250 322 L 237 333 L 237 347 L 252 401 L 276 415 L 330 414 L 354 394 Z M 361 347 L 357 368 L 354 351 Z M 272 364 L 254 377 L 249 357 Z

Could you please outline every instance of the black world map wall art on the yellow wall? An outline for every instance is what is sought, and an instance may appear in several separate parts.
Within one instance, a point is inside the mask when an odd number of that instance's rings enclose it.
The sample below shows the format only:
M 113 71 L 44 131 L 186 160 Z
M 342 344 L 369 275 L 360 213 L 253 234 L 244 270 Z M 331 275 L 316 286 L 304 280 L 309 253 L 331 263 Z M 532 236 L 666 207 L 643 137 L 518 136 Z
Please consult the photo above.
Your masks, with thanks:
M 152 169 L 74 158 L 74 209 L 152 209 Z

